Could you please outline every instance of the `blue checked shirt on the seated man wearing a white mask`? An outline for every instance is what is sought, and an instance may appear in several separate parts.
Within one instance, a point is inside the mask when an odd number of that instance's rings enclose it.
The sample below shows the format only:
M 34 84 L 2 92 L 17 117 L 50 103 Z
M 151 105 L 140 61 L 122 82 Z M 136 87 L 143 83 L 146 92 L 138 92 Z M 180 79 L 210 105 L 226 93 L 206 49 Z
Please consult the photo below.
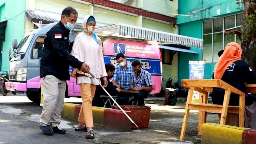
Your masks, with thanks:
M 112 80 L 117 81 L 117 85 L 122 86 L 123 90 L 129 90 L 131 84 L 131 74 L 133 73 L 131 64 L 127 62 L 127 68 L 124 70 L 120 65 L 116 66 L 115 74 Z

